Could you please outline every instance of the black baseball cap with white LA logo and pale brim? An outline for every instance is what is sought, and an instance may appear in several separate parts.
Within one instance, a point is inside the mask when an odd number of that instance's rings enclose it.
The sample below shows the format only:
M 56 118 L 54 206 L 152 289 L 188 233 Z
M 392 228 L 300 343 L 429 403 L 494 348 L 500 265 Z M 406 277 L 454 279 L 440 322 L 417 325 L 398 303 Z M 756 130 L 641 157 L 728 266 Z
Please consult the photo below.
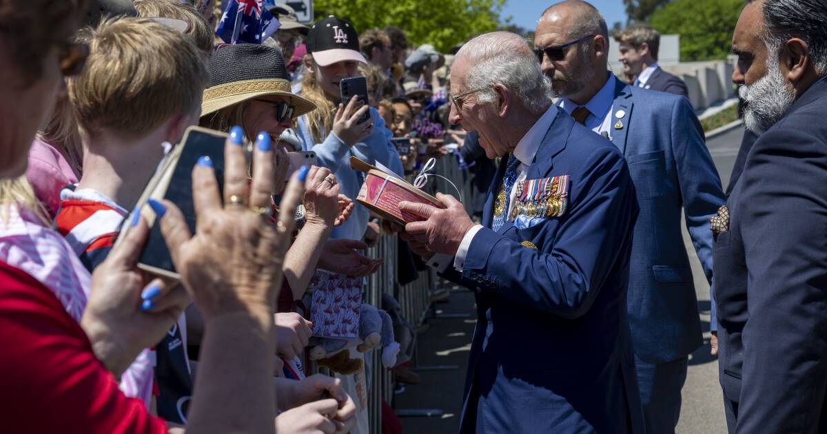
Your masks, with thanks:
M 308 53 L 319 66 L 327 66 L 344 60 L 367 64 L 359 51 L 359 35 L 351 21 L 327 17 L 310 28 L 307 36 Z

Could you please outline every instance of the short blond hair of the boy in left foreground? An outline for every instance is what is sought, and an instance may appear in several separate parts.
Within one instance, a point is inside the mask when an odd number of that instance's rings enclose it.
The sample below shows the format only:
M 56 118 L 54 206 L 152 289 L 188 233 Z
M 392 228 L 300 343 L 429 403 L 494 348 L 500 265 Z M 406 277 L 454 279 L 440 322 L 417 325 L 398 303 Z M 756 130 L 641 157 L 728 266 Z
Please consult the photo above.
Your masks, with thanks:
M 147 18 L 102 21 L 81 40 L 90 54 L 69 80 L 80 126 L 141 136 L 170 117 L 198 113 L 207 65 L 187 36 Z

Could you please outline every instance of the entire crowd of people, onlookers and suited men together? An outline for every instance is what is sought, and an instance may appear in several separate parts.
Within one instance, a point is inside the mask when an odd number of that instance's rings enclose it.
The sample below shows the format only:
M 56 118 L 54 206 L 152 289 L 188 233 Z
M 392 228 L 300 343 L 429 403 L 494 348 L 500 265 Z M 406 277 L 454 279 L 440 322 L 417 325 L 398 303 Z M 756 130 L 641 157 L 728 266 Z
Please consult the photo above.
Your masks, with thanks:
M 428 267 L 476 297 L 461 432 L 675 432 L 703 344 L 681 221 L 729 432 L 827 427 L 824 0 L 744 7 L 748 131 L 726 192 L 657 31 L 614 36 L 618 79 L 588 2 L 552 4 L 533 41 L 495 31 L 450 54 L 223 3 L 0 0 L 4 432 L 369 432 L 366 372 L 420 381 L 394 295 Z M 261 43 L 222 31 L 242 16 Z M 343 100 L 355 77 L 365 100 Z M 190 126 L 227 135 L 221 167 L 192 170 L 194 233 L 143 199 Z M 410 181 L 455 160 L 472 211 L 437 193 L 399 203 L 420 221 L 386 221 L 356 203 L 354 156 Z M 180 279 L 139 267 L 151 231 Z M 366 256 L 382 236 L 397 255 Z M 359 291 L 383 260 L 393 351 L 373 365 L 348 342 L 318 360 L 331 375 L 306 375 L 309 294 L 331 276 Z

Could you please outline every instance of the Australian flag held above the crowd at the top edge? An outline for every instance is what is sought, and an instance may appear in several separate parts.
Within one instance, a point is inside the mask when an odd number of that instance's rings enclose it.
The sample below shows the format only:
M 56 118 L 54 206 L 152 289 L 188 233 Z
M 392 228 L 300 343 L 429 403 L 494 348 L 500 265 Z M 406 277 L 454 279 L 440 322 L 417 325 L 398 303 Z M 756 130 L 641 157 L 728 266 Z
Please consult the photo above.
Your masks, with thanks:
M 262 0 L 230 0 L 216 33 L 228 44 L 261 44 L 279 26 L 279 19 L 263 7 Z

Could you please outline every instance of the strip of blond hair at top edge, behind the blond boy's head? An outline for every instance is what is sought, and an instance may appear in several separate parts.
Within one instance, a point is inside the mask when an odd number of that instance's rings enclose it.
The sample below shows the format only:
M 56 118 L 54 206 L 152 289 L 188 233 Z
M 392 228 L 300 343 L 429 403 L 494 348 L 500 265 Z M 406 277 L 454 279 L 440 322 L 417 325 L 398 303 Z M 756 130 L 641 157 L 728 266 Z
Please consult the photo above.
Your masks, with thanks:
M 213 55 L 213 29 L 190 3 L 184 4 L 177 0 L 135 0 L 133 4 L 141 17 L 174 18 L 186 22 L 187 30 L 184 31 L 184 35 L 193 38 L 195 46 L 207 55 L 208 59 Z

